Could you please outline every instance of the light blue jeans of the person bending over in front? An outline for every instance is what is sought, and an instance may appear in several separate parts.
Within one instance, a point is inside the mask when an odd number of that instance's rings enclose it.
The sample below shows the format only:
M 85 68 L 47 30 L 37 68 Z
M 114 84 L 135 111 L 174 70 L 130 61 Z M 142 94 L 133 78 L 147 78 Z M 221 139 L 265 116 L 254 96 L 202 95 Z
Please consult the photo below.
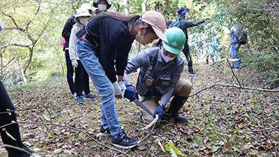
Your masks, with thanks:
M 77 55 L 100 93 L 102 102 L 101 125 L 107 124 L 112 136 L 119 135 L 122 131 L 114 106 L 114 87 L 100 64 L 97 47 L 89 41 L 78 39 Z

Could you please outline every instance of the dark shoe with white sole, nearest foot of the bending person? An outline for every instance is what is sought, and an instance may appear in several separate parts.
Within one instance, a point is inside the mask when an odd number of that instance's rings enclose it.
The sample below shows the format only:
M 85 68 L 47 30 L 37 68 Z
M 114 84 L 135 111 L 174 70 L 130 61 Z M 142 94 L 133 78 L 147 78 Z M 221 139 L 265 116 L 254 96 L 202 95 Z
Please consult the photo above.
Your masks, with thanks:
M 112 144 L 122 149 L 131 149 L 138 144 L 138 141 L 127 137 L 125 133 L 120 133 L 116 137 L 112 137 Z

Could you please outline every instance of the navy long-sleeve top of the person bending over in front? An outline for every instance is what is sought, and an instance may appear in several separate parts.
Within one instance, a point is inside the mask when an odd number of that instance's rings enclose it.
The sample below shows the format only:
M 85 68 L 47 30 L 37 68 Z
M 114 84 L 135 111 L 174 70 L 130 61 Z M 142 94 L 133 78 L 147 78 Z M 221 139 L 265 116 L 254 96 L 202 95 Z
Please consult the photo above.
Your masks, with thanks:
M 128 22 L 113 17 L 93 18 L 76 35 L 80 38 L 84 33 L 92 45 L 98 44 L 100 63 L 110 81 L 116 82 L 116 75 L 124 74 L 128 53 L 135 40 L 130 34 Z

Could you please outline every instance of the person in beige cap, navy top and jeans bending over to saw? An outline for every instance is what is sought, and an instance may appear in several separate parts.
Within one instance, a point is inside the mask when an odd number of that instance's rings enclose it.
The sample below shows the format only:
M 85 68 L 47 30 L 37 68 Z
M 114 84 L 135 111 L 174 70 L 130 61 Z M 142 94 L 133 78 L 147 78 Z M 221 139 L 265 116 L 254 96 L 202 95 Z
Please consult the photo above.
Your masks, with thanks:
M 163 15 L 151 10 L 142 15 L 99 13 L 76 33 L 79 38 L 78 57 L 100 92 L 102 102 L 100 135 L 105 133 L 112 135 L 112 144 L 116 147 L 130 149 L 138 143 L 121 130 L 114 106 L 114 96 L 121 98 L 118 81 L 121 83 L 123 80 L 128 53 L 134 40 L 142 45 L 152 43 L 157 38 L 167 42 L 164 31 Z

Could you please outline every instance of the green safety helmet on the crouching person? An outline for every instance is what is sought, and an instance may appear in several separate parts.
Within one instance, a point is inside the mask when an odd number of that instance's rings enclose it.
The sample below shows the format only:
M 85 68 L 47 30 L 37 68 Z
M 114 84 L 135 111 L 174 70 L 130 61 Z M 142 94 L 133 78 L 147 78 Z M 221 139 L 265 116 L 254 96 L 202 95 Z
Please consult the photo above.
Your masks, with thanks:
M 183 31 L 177 27 L 172 27 L 165 31 L 165 36 L 169 42 L 165 43 L 165 41 L 163 41 L 163 47 L 165 50 L 171 52 L 172 54 L 179 54 L 183 50 L 186 40 Z

